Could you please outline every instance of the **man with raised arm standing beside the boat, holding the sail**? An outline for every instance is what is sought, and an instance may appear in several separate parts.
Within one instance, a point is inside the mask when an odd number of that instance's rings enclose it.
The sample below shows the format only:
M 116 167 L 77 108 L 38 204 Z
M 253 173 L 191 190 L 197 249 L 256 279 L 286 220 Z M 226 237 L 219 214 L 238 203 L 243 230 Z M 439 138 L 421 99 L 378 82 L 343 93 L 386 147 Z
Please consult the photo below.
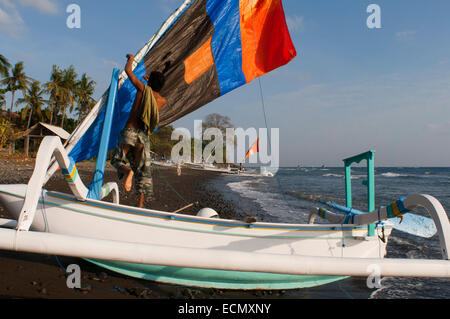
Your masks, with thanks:
M 163 73 L 153 71 L 144 76 L 145 85 L 133 73 L 134 56 L 127 55 L 125 72 L 136 88 L 136 97 L 125 128 L 120 132 L 111 165 L 117 169 L 119 179 L 125 178 L 125 190 L 129 192 L 135 178 L 138 207 L 143 207 L 145 196 L 152 196 L 153 182 L 150 161 L 150 134 L 159 121 L 159 110 L 166 100 L 158 93 L 164 86 Z M 130 165 L 128 166 L 127 163 Z

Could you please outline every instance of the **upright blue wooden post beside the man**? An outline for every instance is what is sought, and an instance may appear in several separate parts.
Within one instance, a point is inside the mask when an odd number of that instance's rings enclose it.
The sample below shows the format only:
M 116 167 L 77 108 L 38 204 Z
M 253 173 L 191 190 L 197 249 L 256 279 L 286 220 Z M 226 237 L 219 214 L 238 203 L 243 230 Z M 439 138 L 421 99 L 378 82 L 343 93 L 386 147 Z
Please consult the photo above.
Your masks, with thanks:
M 111 134 L 111 125 L 114 115 L 114 106 L 117 99 L 119 83 L 119 69 L 114 69 L 111 78 L 111 85 L 109 87 L 108 102 L 106 105 L 105 121 L 103 122 L 102 136 L 100 140 L 100 147 L 97 155 L 97 162 L 95 164 L 94 179 L 89 186 L 89 198 L 99 200 L 103 186 L 103 176 L 105 173 L 106 156 L 108 154 L 109 137 Z

